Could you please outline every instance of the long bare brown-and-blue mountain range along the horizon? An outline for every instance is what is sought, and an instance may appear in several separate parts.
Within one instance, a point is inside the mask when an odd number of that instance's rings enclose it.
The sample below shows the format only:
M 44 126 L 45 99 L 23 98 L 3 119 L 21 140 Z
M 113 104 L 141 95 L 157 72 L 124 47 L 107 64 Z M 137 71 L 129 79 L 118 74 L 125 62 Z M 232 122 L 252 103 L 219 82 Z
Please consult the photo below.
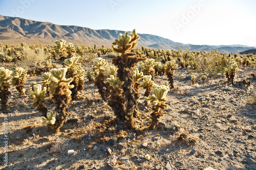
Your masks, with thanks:
M 132 30 L 131 30 L 132 31 Z M 97 46 L 104 44 L 107 47 L 124 31 L 117 30 L 93 30 L 78 26 L 60 26 L 51 22 L 40 22 L 18 17 L 0 15 L 0 42 L 10 44 L 47 43 L 53 45 L 55 40 L 64 39 L 74 44 L 86 44 Z M 248 49 L 254 49 L 244 45 L 193 45 L 174 42 L 151 34 L 139 34 L 137 47 L 157 48 L 164 50 L 177 50 L 179 46 L 190 47 L 190 51 L 211 51 L 216 48 L 224 53 L 239 53 Z

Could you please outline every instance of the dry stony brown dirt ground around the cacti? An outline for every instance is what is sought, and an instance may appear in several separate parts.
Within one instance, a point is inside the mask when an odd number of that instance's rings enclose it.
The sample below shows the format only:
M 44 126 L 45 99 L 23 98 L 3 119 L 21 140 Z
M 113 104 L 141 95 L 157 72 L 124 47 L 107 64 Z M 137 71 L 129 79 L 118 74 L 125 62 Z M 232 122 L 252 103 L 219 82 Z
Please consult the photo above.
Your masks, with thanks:
M 91 70 L 92 64 L 92 61 L 83 64 L 83 69 Z M 167 94 L 168 109 L 163 111 L 160 127 L 143 132 L 122 130 L 122 126 L 102 126 L 114 113 L 101 102 L 97 88 L 88 80 L 84 82 L 80 99 L 71 103 L 69 122 L 58 134 L 40 124 L 40 112 L 25 108 L 32 104 L 28 94 L 20 96 L 12 87 L 8 103 L 11 112 L 1 114 L 1 123 L 4 116 L 8 118 L 8 166 L 4 166 L 4 126 L 1 124 L 0 167 L 256 169 L 256 109 L 248 102 L 255 91 L 256 79 L 250 78 L 251 71 L 255 72 L 255 68 L 240 67 L 234 86 L 226 82 L 224 75 L 207 78 L 203 83 L 198 74 L 194 74 L 196 84 L 191 85 L 189 70 L 176 68 L 178 89 Z M 240 86 L 239 81 L 243 79 L 250 80 L 251 86 Z M 29 83 L 39 80 L 40 77 L 29 77 L 25 88 L 30 89 Z M 167 81 L 166 76 L 155 76 L 156 84 L 164 84 L 164 81 Z M 151 110 L 143 106 L 144 90 L 140 92 L 142 119 L 138 119 L 137 124 L 146 126 Z M 54 110 L 54 104 L 45 104 L 48 110 Z M 26 126 L 34 127 L 26 129 Z M 183 134 L 185 139 L 178 140 L 182 133 L 188 136 Z M 68 150 L 75 153 L 69 156 Z M 147 154 L 149 160 L 145 159 Z

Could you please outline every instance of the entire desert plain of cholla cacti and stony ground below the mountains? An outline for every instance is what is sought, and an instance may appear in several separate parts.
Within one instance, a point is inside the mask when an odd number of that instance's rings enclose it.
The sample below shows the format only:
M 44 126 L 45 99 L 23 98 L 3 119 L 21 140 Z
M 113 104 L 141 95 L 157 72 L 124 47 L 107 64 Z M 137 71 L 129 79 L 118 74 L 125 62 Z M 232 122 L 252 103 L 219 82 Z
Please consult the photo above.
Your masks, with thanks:
M 0 166 L 255 169 L 256 56 L 137 48 L 139 38 L 0 43 Z

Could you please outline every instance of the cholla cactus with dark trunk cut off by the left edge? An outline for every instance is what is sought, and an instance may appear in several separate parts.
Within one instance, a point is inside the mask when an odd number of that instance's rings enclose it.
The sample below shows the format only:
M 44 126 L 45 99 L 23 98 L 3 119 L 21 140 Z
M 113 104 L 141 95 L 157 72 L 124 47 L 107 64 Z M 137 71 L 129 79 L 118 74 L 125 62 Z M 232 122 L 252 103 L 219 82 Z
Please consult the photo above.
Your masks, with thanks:
M 12 71 L 9 69 L 5 69 L 4 67 L 0 67 L 0 99 L 2 112 L 6 112 L 8 95 L 11 94 L 9 91 L 10 83 L 9 81 L 12 79 L 11 77 Z

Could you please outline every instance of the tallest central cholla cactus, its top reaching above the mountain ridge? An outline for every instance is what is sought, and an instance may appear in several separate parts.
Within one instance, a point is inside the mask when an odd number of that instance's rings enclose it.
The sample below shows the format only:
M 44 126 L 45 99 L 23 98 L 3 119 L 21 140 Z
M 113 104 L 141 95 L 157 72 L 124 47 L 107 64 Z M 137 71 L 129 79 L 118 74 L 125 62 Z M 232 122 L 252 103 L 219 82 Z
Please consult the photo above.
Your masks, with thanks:
M 121 89 L 123 90 L 122 95 L 125 99 L 123 105 L 125 105 L 125 116 L 126 123 L 128 128 L 134 128 L 135 119 L 134 119 L 134 106 L 135 106 L 135 97 L 134 94 L 134 80 L 132 70 L 136 63 L 143 61 L 145 59 L 140 58 L 136 53 L 127 53 L 129 50 L 132 50 L 136 45 L 136 40 L 140 37 L 137 35 L 136 30 L 133 30 L 132 33 L 125 32 L 124 35 L 119 34 L 118 39 L 115 39 L 113 42 L 113 50 L 117 53 L 121 53 L 116 58 L 112 59 L 114 65 L 118 67 L 117 77 L 120 81 L 123 81 Z M 115 47 L 114 45 L 117 45 Z M 122 113 L 120 113 L 122 115 Z

